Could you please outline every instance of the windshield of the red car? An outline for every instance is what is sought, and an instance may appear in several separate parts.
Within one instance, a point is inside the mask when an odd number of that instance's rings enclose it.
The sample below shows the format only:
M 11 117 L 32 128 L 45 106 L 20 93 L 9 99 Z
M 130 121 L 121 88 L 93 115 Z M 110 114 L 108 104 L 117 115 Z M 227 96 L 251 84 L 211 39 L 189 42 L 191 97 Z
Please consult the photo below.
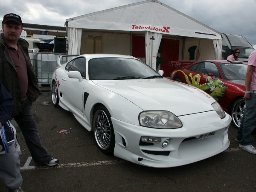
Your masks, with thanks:
M 220 64 L 221 71 L 227 80 L 245 80 L 247 64 Z

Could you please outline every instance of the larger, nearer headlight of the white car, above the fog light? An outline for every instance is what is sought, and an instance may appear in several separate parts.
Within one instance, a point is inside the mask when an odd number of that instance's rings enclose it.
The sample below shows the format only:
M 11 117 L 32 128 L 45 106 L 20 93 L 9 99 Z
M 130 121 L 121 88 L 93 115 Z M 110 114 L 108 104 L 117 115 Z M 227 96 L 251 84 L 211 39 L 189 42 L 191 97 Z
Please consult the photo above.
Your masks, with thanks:
M 182 123 L 169 111 L 143 111 L 139 115 L 140 125 L 150 128 L 174 129 L 182 127 Z

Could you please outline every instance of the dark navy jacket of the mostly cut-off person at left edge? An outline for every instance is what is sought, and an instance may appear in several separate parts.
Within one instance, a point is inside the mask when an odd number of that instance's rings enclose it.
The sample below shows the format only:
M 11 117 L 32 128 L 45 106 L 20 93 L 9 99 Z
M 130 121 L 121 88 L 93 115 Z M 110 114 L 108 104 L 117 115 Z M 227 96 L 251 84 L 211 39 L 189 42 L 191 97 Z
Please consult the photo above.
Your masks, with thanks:
M 8 120 L 10 120 L 12 115 L 12 106 L 13 98 L 0 82 L 0 122 L 4 126 L 7 142 L 14 140 L 13 132 L 9 124 L 7 124 Z M 3 146 L 1 138 L 0 145 Z

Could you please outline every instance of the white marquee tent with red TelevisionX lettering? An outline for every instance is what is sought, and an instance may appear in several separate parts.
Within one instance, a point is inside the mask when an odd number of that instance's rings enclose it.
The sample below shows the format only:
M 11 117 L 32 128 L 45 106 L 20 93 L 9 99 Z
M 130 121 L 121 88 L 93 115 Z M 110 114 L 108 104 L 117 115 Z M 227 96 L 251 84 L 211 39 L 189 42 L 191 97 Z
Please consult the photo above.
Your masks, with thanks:
M 141 35 L 145 37 L 145 63 L 155 70 L 162 38 L 179 40 L 178 59 L 188 58 L 189 53 L 186 50 L 193 46 L 197 47 L 198 55 L 195 59 L 204 59 L 204 57 L 221 59 L 220 32 L 157 0 L 146 0 L 73 17 L 66 20 L 66 26 L 68 54 L 88 53 L 85 50 L 87 50 L 86 46 L 89 46 L 89 36 L 94 41 L 94 52 L 97 52 L 95 37 L 102 36 L 103 39 L 103 33 L 113 33 L 115 35 L 112 37 L 109 35 L 105 40 L 100 40 L 99 44 L 102 46 L 100 52 L 119 53 L 120 50 L 128 47 L 129 51 L 124 53 L 131 55 L 133 49 L 131 39 L 133 35 Z M 112 44 L 118 48 L 110 48 L 114 47 Z M 105 46 L 109 47 L 105 49 Z

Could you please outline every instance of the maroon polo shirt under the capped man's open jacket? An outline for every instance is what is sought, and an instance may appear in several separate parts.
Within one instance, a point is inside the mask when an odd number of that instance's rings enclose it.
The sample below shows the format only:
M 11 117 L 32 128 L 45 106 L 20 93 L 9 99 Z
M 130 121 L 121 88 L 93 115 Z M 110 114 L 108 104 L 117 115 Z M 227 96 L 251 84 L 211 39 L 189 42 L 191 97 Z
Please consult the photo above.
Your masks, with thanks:
M 21 96 L 20 99 L 21 101 L 24 101 L 27 98 L 26 93 L 28 90 L 28 73 L 26 69 L 26 60 L 20 49 L 19 43 L 17 43 L 18 51 L 16 51 L 15 48 L 10 47 L 10 45 L 6 41 L 5 41 L 5 45 L 7 47 L 9 54 L 12 57 L 13 63 L 15 64 L 17 74 L 20 80 L 20 96 Z

